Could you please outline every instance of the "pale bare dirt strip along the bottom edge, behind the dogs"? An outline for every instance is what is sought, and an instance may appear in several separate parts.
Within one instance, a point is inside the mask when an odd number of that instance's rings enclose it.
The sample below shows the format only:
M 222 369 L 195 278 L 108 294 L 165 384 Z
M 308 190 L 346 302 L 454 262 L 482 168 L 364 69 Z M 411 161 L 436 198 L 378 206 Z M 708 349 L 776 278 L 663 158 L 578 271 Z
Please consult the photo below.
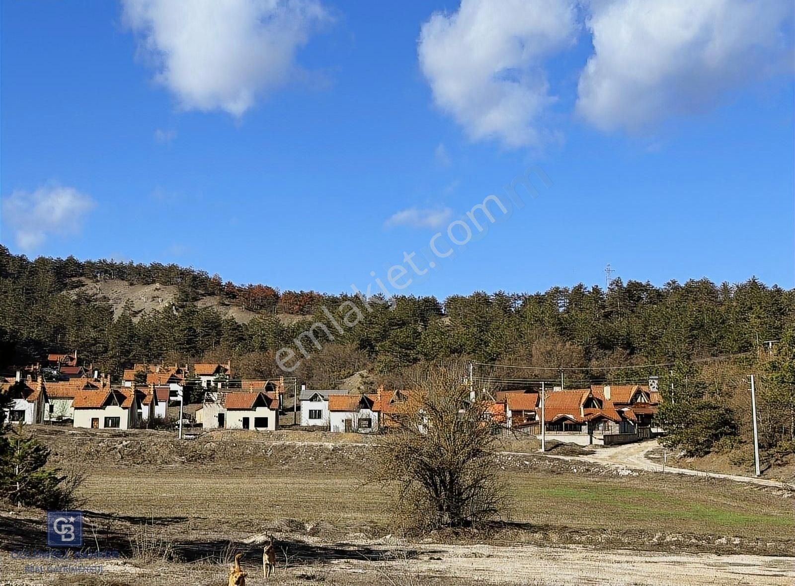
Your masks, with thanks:
M 320 544 L 317 544 L 320 545 Z M 643 553 L 623 549 L 597 550 L 581 546 L 451 546 L 423 544 L 410 546 L 411 557 L 401 556 L 397 543 L 347 542 L 338 547 L 351 549 L 321 564 L 298 562 L 282 569 L 271 584 L 296 584 L 304 580 L 322 580 L 337 586 L 363 584 L 611 584 L 611 586 L 702 586 L 706 584 L 759 584 L 789 586 L 795 583 L 795 558 L 751 555 L 714 555 L 695 553 Z M 394 558 L 374 561 L 357 555 L 366 546 L 370 553 L 390 550 Z M 92 564 L 94 562 L 91 562 Z M 243 569 L 258 580 L 258 560 L 246 557 Z M 25 575 L 25 563 L 0 554 L 3 578 L 0 584 L 52 586 L 52 584 L 221 584 L 226 566 L 203 564 L 164 564 L 161 561 L 106 561 L 97 580 L 77 577 L 67 581 L 63 574 Z M 80 565 L 80 564 L 71 564 Z M 19 580 L 19 581 L 17 581 Z

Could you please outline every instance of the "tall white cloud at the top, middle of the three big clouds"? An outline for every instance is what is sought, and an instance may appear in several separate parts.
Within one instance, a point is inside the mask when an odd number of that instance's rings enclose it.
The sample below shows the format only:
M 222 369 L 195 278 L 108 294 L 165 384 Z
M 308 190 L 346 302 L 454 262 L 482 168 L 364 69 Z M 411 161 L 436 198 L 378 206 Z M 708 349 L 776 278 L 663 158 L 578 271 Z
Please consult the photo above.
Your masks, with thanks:
M 538 144 L 555 100 L 542 65 L 572 44 L 575 17 L 572 2 L 545 0 L 462 0 L 456 13 L 432 14 L 417 51 L 436 104 L 471 140 Z

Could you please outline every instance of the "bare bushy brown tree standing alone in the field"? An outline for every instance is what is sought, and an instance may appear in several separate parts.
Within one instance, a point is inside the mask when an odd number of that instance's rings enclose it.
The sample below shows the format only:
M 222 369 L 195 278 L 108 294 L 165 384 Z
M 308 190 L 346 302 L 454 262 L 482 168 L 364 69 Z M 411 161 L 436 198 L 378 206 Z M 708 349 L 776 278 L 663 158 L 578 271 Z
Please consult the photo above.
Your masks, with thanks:
M 466 527 L 498 516 L 506 502 L 492 403 L 471 400 L 460 365 L 417 375 L 404 414 L 379 440 L 374 480 L 397 487 L 405 528 Z

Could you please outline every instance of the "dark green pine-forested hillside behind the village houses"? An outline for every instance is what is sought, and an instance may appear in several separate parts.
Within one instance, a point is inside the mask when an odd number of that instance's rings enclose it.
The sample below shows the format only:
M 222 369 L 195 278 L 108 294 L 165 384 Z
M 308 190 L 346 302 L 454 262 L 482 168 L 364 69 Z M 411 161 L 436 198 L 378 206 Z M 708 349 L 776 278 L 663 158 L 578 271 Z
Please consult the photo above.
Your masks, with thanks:
M 123 279 L 177 287 L 173 303 L 114 319 L 102 299 L 80 291 L 83 280 Z M 266 285 L 237 286 L 219 276 L 176 265 L 80 262 L 10 254 L 0 247 L 0 340 L 2 365 L 41 360 L 48 352 L 79 349 L 107 372 L 126 364 L 231 357 L 242 376 L 273 374 L 273 353 L 312 322 L 328 323 L 325 306 L 340 317 L 351 295 L 280 293 Z M 248 324 L 196 306 L 204 295 L 258 312 Z M 370 303 L 362 320 L 304 360 L 299 376 L 316 368 L 333 376 L 354 367 L 378 372 L 444 357 L 483 362 L 599 366 L 691 360 L 755 349 L 780 339 L 795 316 L 795 291 L 758 280 L 715 285 L 708 280 L 671 281 L 664 287 L 615 280 L 598 286 L 553 287 L 543 293 L 476 292 L 401 297 L 394 309 Z M 274 313 L 305 315 L 284 325 Z M 322 337 L 322 334 L 321 334 Z M 325 342 L 325 340 L 323 340 Z M 320 382 L 320 381 L 319 381 Z

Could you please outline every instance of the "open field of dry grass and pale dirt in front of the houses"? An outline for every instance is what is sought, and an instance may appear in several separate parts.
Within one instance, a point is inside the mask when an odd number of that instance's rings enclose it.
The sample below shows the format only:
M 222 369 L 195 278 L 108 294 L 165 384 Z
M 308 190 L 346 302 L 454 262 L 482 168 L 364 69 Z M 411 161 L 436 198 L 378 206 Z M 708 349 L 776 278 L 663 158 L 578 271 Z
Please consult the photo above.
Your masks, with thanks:
M 58 465 L 87 475 L 87 549 L 123 559 L 99 576 L 25 576 L 11 553 L 44 548 L 44 515 L 2 511 L 0 584 L 225 584 L 236 551 L 249 584 L 265 584 L 266 534 L 279 544 L 270 584 L 795 582 L 795 497 L 770 488 L 511 454 L 504 522 L 405 538 L 392 524 L 394 495 L 364 482 L 373 449 L 355 437 L 42 438 Z

